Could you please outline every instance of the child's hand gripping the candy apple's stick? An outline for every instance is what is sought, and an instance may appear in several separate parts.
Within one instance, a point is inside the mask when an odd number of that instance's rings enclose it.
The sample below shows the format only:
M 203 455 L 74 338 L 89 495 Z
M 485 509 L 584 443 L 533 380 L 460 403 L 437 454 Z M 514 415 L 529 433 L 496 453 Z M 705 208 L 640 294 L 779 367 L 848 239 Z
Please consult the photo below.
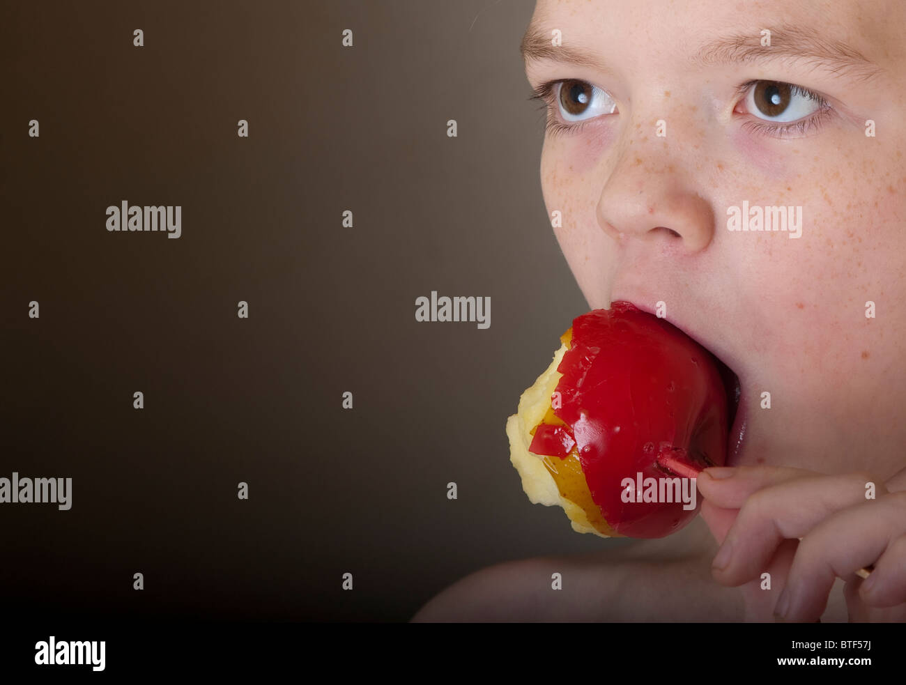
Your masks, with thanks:
M 865 497 L 869 482 L 874 499 Z M 747 620 L 769 620 L 770 596 L 779 620 L 818 621 L 839 577 L 851 622 L 906 621 L 906 469 L 884 483 L 866 473 L 706 468 L 698 486 L 721 544 L 712 573 L 744 586 Z M 871 583 L 855 574 L 870 564 Z M 765 572 L 770 595 L 760 589 Z

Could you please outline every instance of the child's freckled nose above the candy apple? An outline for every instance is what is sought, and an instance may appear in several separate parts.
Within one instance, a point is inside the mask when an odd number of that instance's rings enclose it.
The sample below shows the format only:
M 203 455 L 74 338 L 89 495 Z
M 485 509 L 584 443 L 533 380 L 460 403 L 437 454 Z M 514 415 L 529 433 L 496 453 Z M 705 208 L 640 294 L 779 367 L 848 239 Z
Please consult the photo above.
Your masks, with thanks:
M 602 188 L 598 223 L 618 242 L 636 238 L 690 255 L 713 239 L 714 212 L 665 142 L 635 140 L 622 149 Z

